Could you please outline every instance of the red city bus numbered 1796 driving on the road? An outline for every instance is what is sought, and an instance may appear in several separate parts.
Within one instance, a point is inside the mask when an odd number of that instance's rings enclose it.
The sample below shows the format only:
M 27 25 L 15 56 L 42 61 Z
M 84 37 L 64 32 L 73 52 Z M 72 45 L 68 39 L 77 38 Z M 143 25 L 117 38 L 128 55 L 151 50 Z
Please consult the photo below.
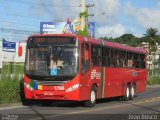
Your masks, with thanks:
M 132 100 L 145 91 L 146 76 L 143 49 L 78 35 L 38 34 L 28 38 L 22 88 L 24 100 L 84 101 L 92 107 L 101 98 Z

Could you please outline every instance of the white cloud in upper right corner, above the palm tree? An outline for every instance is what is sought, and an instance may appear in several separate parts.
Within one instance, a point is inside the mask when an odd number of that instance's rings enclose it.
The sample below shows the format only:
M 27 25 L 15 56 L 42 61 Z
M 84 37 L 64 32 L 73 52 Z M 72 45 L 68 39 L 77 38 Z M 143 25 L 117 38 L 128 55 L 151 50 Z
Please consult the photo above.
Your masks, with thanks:
M 127 3 L 124 10 L 128 16 L 135 18 L 138 25 L 144 29 L 149 27 L 160 28 L 160 10 L 158 8 L 137 9 L 131 3 Z

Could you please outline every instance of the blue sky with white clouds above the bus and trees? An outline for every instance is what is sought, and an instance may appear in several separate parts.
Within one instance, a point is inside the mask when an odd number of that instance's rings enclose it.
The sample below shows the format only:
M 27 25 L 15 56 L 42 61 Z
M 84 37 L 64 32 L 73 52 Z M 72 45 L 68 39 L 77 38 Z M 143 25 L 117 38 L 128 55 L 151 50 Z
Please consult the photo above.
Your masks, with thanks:
M 80 0 L 0 0 L 0 38 L 24 41 L 39 33 L 40 22 L 73 20 L 81 11 Z M 160 31 L 160 0 L 86 0 L 89 21 L 96 23 L 96 37 L 141 37 L 147 28 Z M 160 32 L 159 32 L 160 33 Z

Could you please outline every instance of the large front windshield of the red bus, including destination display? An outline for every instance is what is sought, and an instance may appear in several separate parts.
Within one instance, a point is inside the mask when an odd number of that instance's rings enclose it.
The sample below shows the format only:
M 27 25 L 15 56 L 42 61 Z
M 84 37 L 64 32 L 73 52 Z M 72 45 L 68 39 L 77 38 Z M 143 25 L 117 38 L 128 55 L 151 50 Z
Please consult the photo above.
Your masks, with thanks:
M 32 37 L 27 47 L 27 75 L 45 79 L 77 74 L 78 41 L 75 38 Z

